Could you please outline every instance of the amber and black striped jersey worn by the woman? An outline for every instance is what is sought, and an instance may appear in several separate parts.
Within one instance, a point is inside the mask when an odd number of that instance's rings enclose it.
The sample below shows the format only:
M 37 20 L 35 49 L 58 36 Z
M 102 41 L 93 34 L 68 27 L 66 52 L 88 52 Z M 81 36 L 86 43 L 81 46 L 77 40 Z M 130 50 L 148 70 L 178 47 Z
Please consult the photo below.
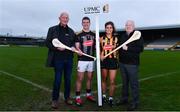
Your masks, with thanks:
M 107 36 L 103 36 L 100 38 L 100 44 L 101 44 L 101 55 L 105 56 L 109 52 L 114 50 L 116 47 L 118 47 L 118 37 L 113 36 L 111 38 L 108 38 Z M 108 58 L 118 58 L 118 51 L 109 55 Z

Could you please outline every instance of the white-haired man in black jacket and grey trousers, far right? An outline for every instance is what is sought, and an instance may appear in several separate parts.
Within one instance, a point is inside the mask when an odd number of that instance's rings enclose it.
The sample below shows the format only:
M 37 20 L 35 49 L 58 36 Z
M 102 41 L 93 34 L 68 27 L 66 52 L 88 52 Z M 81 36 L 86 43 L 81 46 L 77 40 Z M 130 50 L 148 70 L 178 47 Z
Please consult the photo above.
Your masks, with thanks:
M 120 45 L 128 40 L 134 33 L 134 21 L 128 20 L 125 25 L 126 33 L 122 35 Z M 128 110 L 134 110 L 139 104 L 139 82 L 138 68 L 140 63 L 140 53 L 143 51 L 143 38 L 124 45 L 119 50 L 120 72 L 122 76 L 122 96 L 118 104 L 128 103 L 129 85 L 131 89 L 132 101 Z

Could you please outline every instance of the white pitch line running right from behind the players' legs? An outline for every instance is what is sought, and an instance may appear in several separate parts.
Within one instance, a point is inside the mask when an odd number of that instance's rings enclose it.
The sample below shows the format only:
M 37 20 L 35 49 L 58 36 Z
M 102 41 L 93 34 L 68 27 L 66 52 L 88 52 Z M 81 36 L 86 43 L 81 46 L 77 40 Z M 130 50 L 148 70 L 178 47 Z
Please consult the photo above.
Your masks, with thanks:
M 139 80 L 139 82 L 141 81 L 146 81 L 146 80 L 149 80 L 149 79 L 153 79 L 153 78 L 158 78 L 158 77 L 164 77 L 164 76 L 168 76 L 168 75 L 173 75 L 175 73 L 179 73 L 180 71 L 176 71 L 176 72 L 168 72 L 168 73 L 161 73 L 161 74 L 153 74 L 155 76 L 149 76 L 149 77 L 145 77 L 145 78 L 142 78 Z M 122 86 L 122 84 L 118 84 L 116 85 L 115 87 L 118 88 Z M 109 89 L 109 88 L 108 88 Z M 97 93 L 97 91 L 93 91 L 92 93 Z M 82 94 L 81 96 L 86 96 L 86 94 Z M 76 96 L 74 96 L 73 98 L 75 98 Z

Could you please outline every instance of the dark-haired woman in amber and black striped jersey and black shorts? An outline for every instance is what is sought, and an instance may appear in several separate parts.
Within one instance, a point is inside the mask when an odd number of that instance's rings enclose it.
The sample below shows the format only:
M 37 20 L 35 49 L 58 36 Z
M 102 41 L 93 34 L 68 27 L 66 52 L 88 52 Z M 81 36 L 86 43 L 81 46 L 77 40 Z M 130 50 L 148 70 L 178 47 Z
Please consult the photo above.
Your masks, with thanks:
M 114 23 L 109 21 L 105 23 L 105 35 L 100 38 L 101 46 L 101 73 L 102 73 L 102 92 L 103 103 L 108 102 L 110 106 L 113 106 L 113 94 L 115 90 L 115 77 L 118 69 L 118 52 L 114 52 L 107 58 L 104 58 L 106 54 L 114 50 L 118 46 L 118 37 L 115 36 Z M 109 99 L 106 97 L 106 83 L 109 77 L 110 90 Z

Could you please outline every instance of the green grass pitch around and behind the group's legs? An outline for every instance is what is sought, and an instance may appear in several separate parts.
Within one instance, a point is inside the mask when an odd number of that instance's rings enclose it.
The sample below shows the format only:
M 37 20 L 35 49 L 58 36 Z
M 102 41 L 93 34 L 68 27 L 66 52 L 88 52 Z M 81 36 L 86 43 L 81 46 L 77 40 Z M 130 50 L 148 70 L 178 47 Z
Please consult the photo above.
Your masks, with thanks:
M 0 110 L 52 110 L 52 68 L 45 67 L 45 47 L 0 47 Z M 75 94 L 77 58 L 74 57 L 71 95 Z M 15 77 L 12 77 L 11 74 Z M 20 79 L 18 79 L 18 78 Z M 25 79 L 23 81 L 21 79 Z M 140 106 L 138 110 L 180 110 L 180 52 L 144 51 L 140 65 Z M 41 87 L 37 87 L 37 84 Z M 85 83 L 85 81 L 83 82 Z M 121 77 L 116 76 L 115 99 L 120 97 Z M 93 91 L 97 90 L 94 74 Z M 47 88 L 48 90 L 44 90 Z M 63 82 L 61 86 L 63 92 Z M 82 92 L 85 92 L 83 86 Z M 97 97 L 97 93 L 94 95 Z M 125 110 L 125 106 L 98 107 L 84 99 L 84 105 L 67 106 L 60 99 L 59 110 Z

